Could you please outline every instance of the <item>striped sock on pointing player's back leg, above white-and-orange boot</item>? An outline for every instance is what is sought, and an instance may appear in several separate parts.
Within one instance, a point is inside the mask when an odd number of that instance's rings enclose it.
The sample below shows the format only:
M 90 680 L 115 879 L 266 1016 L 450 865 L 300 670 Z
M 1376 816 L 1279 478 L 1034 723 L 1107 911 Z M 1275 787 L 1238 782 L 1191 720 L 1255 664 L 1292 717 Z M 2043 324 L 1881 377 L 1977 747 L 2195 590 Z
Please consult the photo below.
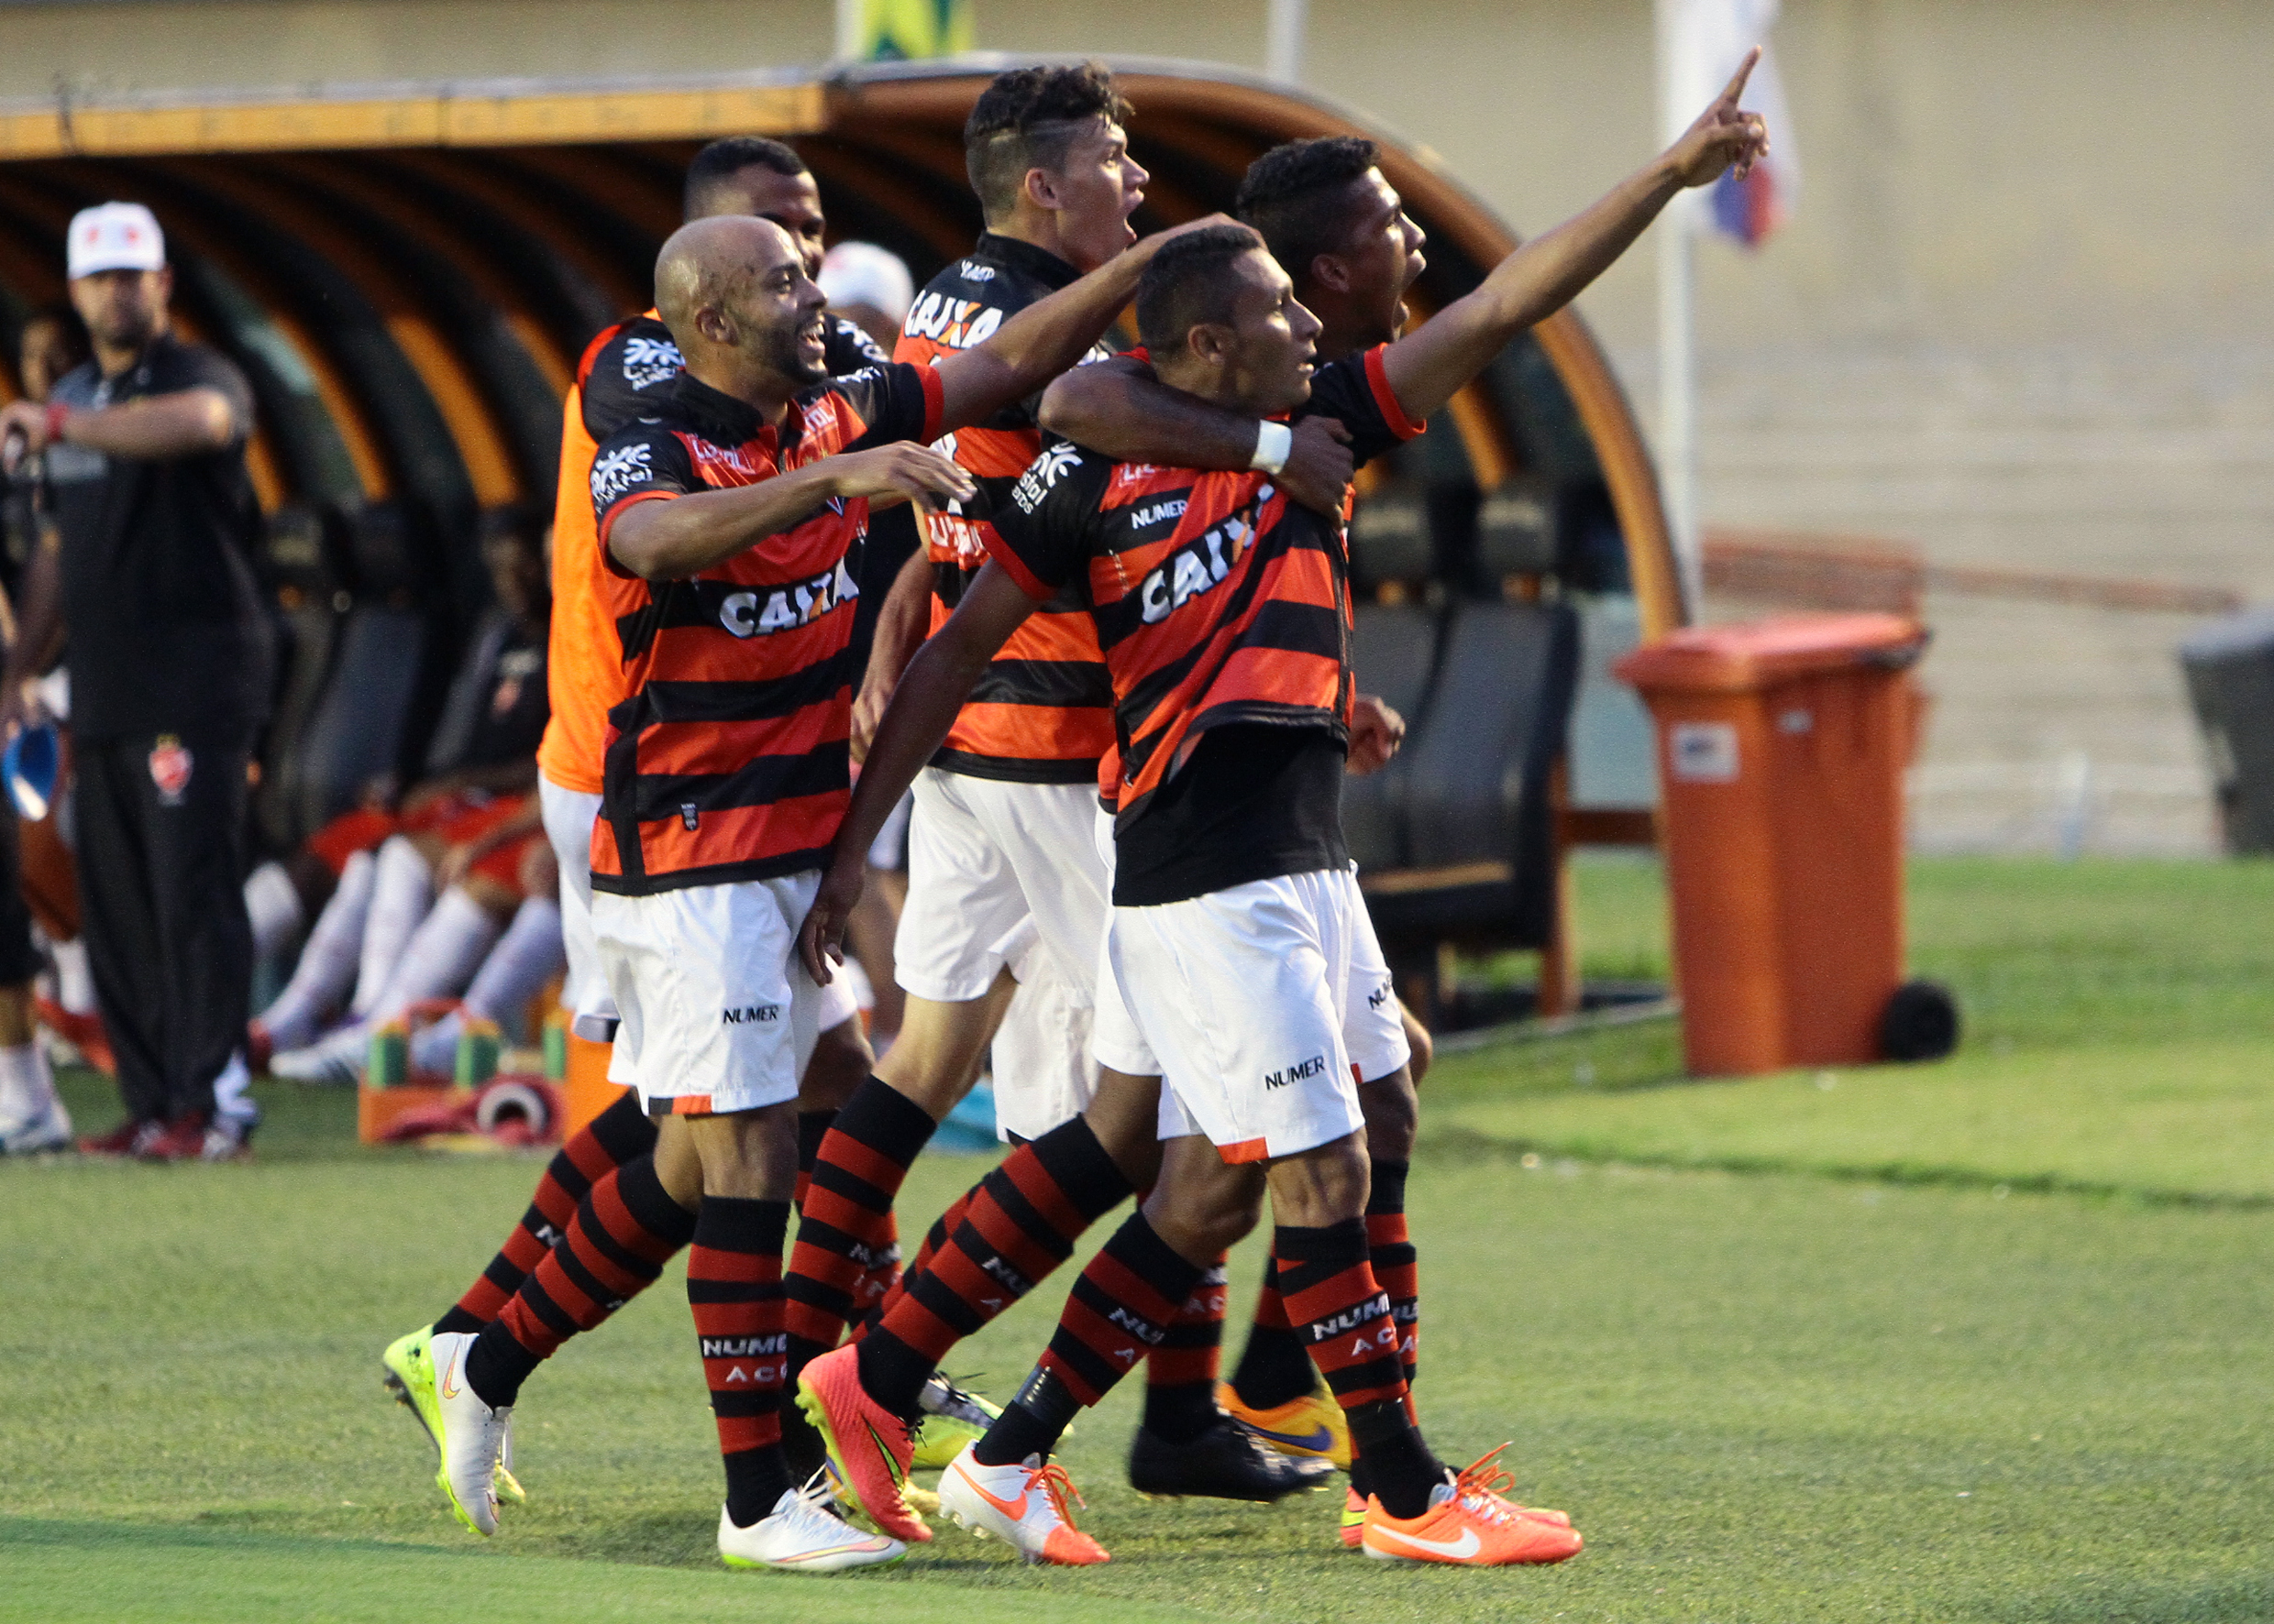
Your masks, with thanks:
M 1130 1365 L 1162 1345 L 1203 1274 L 1207 1270 L 1178 1256 L 1142 1211 L 1130 1213 L 1076 1276 L 1035 1374 L 978 1440 L 980 1465 L 1048 1458 L 1076 1408 L 1103 1399 Z

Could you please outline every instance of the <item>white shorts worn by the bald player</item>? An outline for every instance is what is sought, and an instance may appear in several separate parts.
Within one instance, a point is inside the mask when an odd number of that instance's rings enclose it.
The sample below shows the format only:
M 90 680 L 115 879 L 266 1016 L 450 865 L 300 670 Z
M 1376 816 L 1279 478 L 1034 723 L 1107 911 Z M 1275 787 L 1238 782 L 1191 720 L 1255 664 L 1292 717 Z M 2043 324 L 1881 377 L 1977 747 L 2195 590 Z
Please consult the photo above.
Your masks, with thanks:
M 819 888 L 821 874 L 805 872 L 653 897 L 596 893 L 594 938 L 623 1020 L 609 1081 L 675 1115 L 796 1099 L 814 1040 L 857 1015 L 844 977 L 814 986 L 798 961 Z

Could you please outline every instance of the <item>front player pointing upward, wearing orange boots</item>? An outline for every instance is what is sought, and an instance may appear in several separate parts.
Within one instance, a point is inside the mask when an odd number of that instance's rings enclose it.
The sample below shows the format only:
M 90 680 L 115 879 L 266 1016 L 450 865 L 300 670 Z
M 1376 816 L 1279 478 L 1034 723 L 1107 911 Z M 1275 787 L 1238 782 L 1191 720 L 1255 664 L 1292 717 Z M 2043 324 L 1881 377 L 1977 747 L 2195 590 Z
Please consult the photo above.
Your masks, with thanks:
M 1330 416 L 1369 459 L 1569 302 L 1683 186 L 1767 143 L 1746 70 L 1655 164 L 1505 259 L 1414 336 L 1312 366 L 1319 323 L 1246 227 L 1198 232 L 1139 288 L 1160 379 L 1244 416 Z M 1101 1560 L 1064 1520 L 1051 1449 L 1160 1338 L 1269 1192 L 1280 1286 L 1367 1460 L 1360 1542 L 1383 1560 L 1562 1560 L 1578 1535 L 1501 1499 L 1499 1449 L 1449 1472 L 1421 1440 L 1367 1258 L 1367 1156 L 1344 1031 L 1362 911 L 1339 829 L 1348 579 L 1342 527 L 1267 475 L 1144 468 L 1053 447 L 996 516 L 996 556 L 894 697 L 800 931 L 819 974 L 862 840 L 987 659 L 1069 586 L 1092 602 L 1126 740 L 1107 963 L 1167 1079 L 1162 1177 L 1076 1281 L 1041 1363 L 941 1479 L 957 1520 L 1039 1560 Z M 1101 1022 L 1112 1004 L 1101 1004 Z M 1069 1538 L 1071 1535 L 1071 1538 Z

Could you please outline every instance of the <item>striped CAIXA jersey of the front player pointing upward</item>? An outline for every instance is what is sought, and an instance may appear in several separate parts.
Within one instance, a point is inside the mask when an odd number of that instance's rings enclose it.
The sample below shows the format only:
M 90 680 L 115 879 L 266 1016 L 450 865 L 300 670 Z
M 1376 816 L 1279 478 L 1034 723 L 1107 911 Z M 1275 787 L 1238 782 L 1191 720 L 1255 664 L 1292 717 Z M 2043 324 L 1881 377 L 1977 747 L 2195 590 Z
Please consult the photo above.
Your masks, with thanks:
M 1303 416 L 1342 420 L 1358 463 L 1421 432 L 1392 395 L 1380 350 L 1321 366 Z M 1251 740 L 1248 729 L 1310 736 L 1333 754 L 1346 747 L 1344 520 L 1289 502 L 1264 472 L 1117 463 L 1055 445 L 996 513 L 994 556 L 1028 595 L 1076 593 L 1096 622 L 1121 756 L 1114 902 L 1176 902 L 1162 893 L 1201 895 L 1303 872 L 1342 849 L 1335 781 L 1321 779 L 1317 761 L 1296 761 L 1301 752 L 1260 752 L 1271 768 L 1255 775 L 1294 775 L 1280 788 L 1301 806 L 1273 806 L 1287 797 L 1262 784 L 1260 811 L 1246 820 L 1223 818 L 1221 793 L 1214 806 L 1187 804 L 1171 781 L 1221 727 L 1242 727 Z M 1228 777 L 1237 772 L 1210 772 L 1210 784 Z M 1328 800 L 1314 806 L 1321 781 Z M 1169 802 L 1176 815 L 1162 813 Z M 1221 847 L 1230 822 L 1253 824 L 1237 834 L 1242 852 L 1196 849 Z M 1264 872 L 1248 872 L 1258 868 Z

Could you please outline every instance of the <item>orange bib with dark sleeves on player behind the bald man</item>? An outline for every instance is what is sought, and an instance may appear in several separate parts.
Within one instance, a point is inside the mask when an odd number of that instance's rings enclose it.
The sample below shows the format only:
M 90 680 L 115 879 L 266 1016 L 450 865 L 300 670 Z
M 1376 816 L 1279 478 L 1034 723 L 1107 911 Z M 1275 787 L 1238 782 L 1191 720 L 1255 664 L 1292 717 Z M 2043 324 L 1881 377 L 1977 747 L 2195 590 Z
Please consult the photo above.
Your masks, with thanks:
M 875 338 L 830 316 L 823 332 L 830 375 L 889 361 Z M 600 793 L 607 711 L 625 695 L 616 620 L 644 600 L 641 581 L 612 575 L 591 536 L 591 457 L 625 422 L 655 411 L 680 375 L 680 345 L 655 311 L 605 327 L 584 345 L 562 411 L 559 493 L 553 504 L 553 720 L 537 765 L 555 784 Z

